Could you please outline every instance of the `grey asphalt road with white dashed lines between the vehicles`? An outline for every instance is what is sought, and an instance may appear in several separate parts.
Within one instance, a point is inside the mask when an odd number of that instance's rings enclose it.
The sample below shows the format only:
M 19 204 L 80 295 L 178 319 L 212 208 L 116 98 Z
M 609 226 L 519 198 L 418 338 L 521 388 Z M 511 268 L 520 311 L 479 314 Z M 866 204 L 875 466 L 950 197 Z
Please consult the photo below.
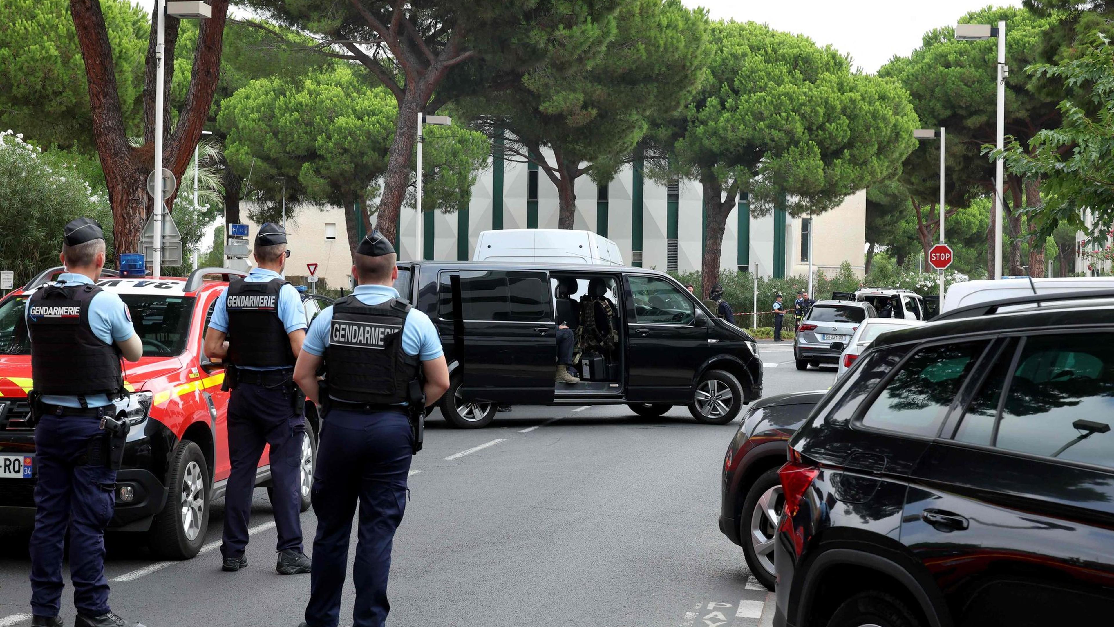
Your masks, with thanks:
M 834 379 L 834 368 L 798 372 L 789 343 L 763 343 L 762 357 L 766 395 Z M 697 424 L 683 407 L 646 421 L 625 406 L 518 406 L 478 431 L 448 428 L 434 413 L 394 541 L 388 624 L 758 625 L 765 591 L 716 524 L 720 469 L 737 428 L 737 419 Z M 154 561 L 135 538 L 110 538 L 113 609 L 148 627 L 296 626 L 309 576 L 274 572 L 266 493 L 256 491 L 240 572 L 221 571 L 223 519 L 217 501 L 205 552 L 188 561 Z M 312 511 L 302 525 L 311 552 Z M 0 627 L 30 624 L 28 537 L 0 528 Z M 353 536 L 350 560 L 354 549 Z M 68 577 L 62 601 L 70 625 Z M 341 625 L 352 601 L 349 582 Z

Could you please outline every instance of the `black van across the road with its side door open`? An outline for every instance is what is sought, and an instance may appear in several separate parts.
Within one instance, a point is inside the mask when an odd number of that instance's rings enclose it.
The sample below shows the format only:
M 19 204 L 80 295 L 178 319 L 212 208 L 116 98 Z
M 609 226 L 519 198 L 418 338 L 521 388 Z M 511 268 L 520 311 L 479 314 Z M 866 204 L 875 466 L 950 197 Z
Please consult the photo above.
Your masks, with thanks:
M 663 272 L 401 262 L 394 287 L 441 334 L 451 384 L 440 407 L 457 427 L 487 426 L 502 404 L 626 404 L 647 417 L 685 405 L 702 423 L 726 424 L 762 395 L 754 338 Z M 585 308 L 596 315 L 583 319 L 613 343 L 600 349 L 578 340 L 580 383 L 556 383 L 558 324 L 576 329 Z

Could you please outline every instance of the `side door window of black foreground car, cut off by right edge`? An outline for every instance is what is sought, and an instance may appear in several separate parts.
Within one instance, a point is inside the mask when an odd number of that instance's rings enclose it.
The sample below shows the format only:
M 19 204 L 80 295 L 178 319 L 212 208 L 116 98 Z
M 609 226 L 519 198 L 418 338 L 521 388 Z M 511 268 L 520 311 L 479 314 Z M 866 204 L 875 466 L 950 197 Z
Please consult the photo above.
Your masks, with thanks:
M 1025 340 L 995 446 L 1114 467 L 1114 334 Z

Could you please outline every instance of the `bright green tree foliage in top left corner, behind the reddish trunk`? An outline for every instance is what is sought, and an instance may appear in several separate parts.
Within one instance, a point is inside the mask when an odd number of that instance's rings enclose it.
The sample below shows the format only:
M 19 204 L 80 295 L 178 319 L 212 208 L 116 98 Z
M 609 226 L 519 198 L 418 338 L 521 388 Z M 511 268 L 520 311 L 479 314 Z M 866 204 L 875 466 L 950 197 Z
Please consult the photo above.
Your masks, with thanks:
M 128 0 L 100 0 L 124 120 L 138 134 L 150 18 Z M 92 149 L 85 62 L 69 0 L 0 0 L 0 128 L 43 146 Z

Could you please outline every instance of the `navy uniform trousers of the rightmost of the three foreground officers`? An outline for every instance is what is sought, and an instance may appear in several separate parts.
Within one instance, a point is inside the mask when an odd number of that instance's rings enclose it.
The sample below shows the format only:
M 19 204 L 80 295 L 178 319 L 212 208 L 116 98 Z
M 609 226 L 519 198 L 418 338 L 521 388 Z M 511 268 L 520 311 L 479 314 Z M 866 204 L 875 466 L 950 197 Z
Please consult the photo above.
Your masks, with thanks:
M 381 627 L 391 610 L 387 600 L 391 544 L 407 504 L 413 455 L 410 423 L 401 412 L 332 409 L 317 451 L 312 492 L 317 536 L 305 621 L 310 627 L 336 627 L 352 517 L 359 504 L 352 627 Z

